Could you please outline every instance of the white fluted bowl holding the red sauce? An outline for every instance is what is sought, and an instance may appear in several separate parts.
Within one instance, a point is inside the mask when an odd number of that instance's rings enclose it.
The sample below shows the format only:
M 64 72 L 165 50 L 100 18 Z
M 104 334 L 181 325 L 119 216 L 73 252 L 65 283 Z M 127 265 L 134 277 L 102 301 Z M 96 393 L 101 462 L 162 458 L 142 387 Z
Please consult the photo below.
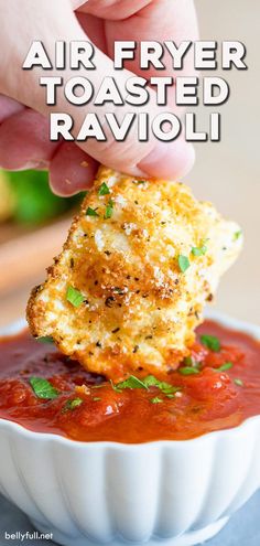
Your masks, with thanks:
M 257 326 L 210 318 L 260 340 Z M 0 419 L 0 453 L 1 493 L 57 543 L 187 546 L 214 536 L 260 486 L 260 416 L 140 445 L 83 443 Z

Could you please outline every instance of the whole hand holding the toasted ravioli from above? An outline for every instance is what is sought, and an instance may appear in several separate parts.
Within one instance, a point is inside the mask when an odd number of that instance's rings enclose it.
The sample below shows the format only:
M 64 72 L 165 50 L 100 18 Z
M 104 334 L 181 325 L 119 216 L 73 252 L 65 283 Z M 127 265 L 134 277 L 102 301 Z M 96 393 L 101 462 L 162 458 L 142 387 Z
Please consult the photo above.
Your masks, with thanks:
M 36 6 L 35 6 L 36 4 Z M 48 169 L 53 191 L 71 195 L 89 186 L 98 162 L 133 175 L 153 175 L 176 179 L 184 175 L 194 161 L 193 147 L 183 137 L 169 143 L 153 139 L 139 142 L 130 133 L 124 142 L 51 142 L 47 115 L 52 110 L 71 114 L 75 128 L 80 127 L 93 105 L 75 107 L 59 95 L 56 107 L 45 105 L 45 90 L 39 86 L 40 68 L 23 71 L 22 64 L 33 40 L 42 40 L 50 56 L 57 40 L 91 40 L 98 47 L 90 73 L 98 89 L 106 75 L 115 74 L 126 81 L 131 74 L 142 75 L 138 60 L 126 63 L 124 71 L 113 69 L 111 57 L 115 40 L 182 40 L 197 39 L 196 14 L 193 0 L 0 0 L 0 165 L 10 170 Z M 57 75 L 61 72 L 57 71 Z M 193 75 L 192 58 L 185 64 L 185 75 Z M 45 73 L 46 75 L 46 73 Z M 55 75 L 55 69 L 52 71 Z M 64 74 L 62 74 L 64 76 Z M 145 77 L 156 74 L 155 69 Z M 163 75 L 173 75 L 169 61 Z M 184 71 L 182 72 L 184 75 Z M 67 67 L 64 79 L 75 76 Z M 88 74 L 89 77 L 89 74 Z M 115 107 L 116 108 L 116 107 Z M 120 113 L 128 110 L 120 107 Z M 152 117 L 159 107 L 151 92 L 145 107 Z M 133 108 L 131 107 L 131 110 Z M 174 106 L 172 107 L 174 109 Z M 111 106 L 106 107 L 107 111 Z M 104 111 L 106 111 L 104 110 Z M 100 113 L 100 107 L 98 114 Z

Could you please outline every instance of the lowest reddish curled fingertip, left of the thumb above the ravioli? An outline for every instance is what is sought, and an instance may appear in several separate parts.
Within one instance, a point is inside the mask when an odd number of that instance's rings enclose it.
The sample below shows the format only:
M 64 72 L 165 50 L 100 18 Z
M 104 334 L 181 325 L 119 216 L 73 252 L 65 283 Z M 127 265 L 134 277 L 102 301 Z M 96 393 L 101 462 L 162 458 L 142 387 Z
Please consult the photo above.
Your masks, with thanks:
M 51 188 L 57 195 L 74 195 L 91 185 L 97 168 L 97 162 L 74 142 L 64 142 L 50 164 Z

